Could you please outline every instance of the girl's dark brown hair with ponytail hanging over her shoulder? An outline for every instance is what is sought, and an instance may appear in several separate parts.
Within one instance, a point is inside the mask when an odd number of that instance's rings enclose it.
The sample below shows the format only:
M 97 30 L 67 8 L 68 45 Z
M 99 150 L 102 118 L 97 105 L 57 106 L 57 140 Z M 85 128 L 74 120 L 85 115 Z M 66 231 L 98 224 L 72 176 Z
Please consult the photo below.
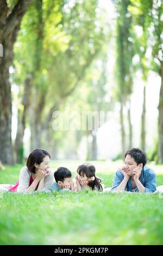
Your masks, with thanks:
M 81 164 L 78 169 L 77 169 L 77 173 L 80 175 L 80 176 L 83 176 L 84 177 L 84 174 L 87 176 L 87 178 L 91 178 L 91 177 L 95 177 L 95 180 L 91 180 L 89 181 L 89 187 L 92 188 L 92 190 L 96 190 L 96 188 L 101 191 L 103 191 L 103 187 L 101 185 L 101 179 L 97 178 L 95 176 L 95 166 L 93 166 L 93 164 L 91 163 L 83 163 Z

